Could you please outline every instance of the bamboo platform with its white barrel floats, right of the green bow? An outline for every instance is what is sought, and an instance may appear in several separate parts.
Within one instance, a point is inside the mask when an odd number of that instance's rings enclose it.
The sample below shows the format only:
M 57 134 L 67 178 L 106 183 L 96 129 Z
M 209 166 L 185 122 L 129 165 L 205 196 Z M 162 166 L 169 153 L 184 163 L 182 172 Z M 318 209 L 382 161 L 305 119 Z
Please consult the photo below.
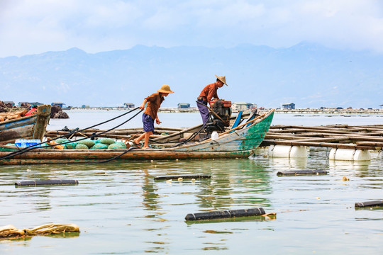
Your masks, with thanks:
M 260 147 L 269 157 L 305 158 L 309 147 L 327 147 L 331 160 L 369 161 L 383 149 L 383 125 L 273 125 Z

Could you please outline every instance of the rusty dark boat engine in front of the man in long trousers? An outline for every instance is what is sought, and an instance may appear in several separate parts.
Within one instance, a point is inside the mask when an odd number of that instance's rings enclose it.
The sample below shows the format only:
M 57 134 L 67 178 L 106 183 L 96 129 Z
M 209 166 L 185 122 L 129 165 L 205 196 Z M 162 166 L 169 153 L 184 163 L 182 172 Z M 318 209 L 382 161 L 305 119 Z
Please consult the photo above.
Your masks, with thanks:
M 205 131 L 221 131 L 223 132 L 226 127 L 230 125 L 231 117 L 231 101 L 211 101 L 210 102 L 211 110 L 219 116 L 219 118 L 211 113 L 211 121 L 206 123 Z

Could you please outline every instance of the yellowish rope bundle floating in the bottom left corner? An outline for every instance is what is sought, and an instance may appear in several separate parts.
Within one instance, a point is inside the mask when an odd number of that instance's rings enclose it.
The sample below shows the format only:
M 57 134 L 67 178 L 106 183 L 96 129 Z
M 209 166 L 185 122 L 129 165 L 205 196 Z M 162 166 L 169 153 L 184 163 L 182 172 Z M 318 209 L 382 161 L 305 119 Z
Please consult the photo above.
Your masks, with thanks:
M 65 232 L 79 232 L 75 224 L 45 224 L 33 229 L 16 229 L 13 225 L 0 227 L 0 238 L 31 237 L 35 235 L 60 234 Z

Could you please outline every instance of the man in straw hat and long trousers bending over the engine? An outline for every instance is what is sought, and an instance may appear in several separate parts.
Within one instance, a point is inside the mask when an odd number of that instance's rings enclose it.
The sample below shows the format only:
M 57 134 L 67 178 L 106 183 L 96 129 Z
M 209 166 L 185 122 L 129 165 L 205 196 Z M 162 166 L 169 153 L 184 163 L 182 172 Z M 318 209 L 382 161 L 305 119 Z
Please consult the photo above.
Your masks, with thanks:
M 206 123 L 206 121 L 209 119 L 209 109 L 206 108 L 207 103 L 210 101 L 212 98 L 216 98 L 219 100 L 217 90 L 218 88 L 221 88 L 223 84 L 228 86 L 226 84 L 226 77 L 217 77 L 216 82 L 206 85 L 204 89 L 202 89 L 201 94 L 199 94 L 199 97 L 197 98 L 197 107 L 199 110 L 199 113 L 201 113 L 201 118 L 202 118 L 202 123 Z

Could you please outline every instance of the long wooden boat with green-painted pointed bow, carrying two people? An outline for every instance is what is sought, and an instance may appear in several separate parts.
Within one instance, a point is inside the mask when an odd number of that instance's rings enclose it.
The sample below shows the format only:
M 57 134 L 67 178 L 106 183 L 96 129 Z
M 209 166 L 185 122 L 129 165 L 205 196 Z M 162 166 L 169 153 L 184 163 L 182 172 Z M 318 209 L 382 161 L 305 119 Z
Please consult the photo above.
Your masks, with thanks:
M 126 160 L 171 160 L 171 159 L 221 159 L 245 158 L 254 153 L 264 139 L 272 123 L 274 110 L 256 118 L 245 120 L 245 123 L 222 132 L 216 140 L 211 138 L 202 142 L 179 145 L 156 144 L 153 149 L 33 149 L 14 157 L 6 157 L 16 151 L 14 147 L 0 147 L 0 164 L 69 164 L 99 163 L 109 159 L 121 162 Z M 195 127 L 194 127 L 195 128 Z M 183 132 L 190 131 L 186 129 Z M 180 133 L 165 135 L 157 142 L 178 139 Z M 172 138 L 173 137 L 173 138 Z M 115 158 L 115 159 L 114 159 Z

